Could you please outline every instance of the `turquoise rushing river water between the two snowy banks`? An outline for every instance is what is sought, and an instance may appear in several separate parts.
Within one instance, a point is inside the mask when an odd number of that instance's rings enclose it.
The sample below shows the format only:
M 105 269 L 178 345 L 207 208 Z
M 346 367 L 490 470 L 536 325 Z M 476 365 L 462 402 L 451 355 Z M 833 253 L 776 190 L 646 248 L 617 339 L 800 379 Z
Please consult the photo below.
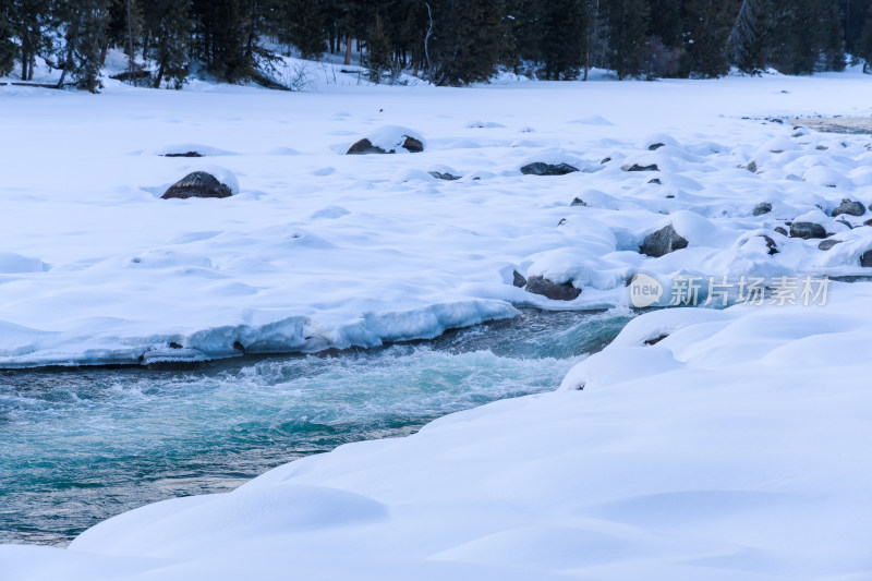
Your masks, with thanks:
M 137 506 L 227 492 L 304 455 L 555 389 L 627 320 L 525 311 L 427 342 L 197 372 L 0 372 L 0 543 L 65 545 Z

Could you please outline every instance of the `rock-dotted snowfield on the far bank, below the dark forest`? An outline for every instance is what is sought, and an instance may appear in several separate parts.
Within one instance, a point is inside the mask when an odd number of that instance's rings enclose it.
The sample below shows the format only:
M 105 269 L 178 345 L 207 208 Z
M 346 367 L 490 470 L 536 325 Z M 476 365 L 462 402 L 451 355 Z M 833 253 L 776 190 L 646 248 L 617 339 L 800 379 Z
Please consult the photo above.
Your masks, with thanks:
M 764 119 L 869 114 L 868 76 L 318 87 L 0 87 L 0 366 L 135 363 L 170 342 L 209 358 L 376 346 L 518 305 L 626 304 L 640 268 L 865 271 L 872 228 L 826 218 L 844 241 L 826 252 L 773 229 L 871 203 L 870 138 Z M 426 150 L 341 155 L 386 125 Z M 206 157 L 161 157 L 191 149 Z M 523 175 L 531 160 L 583 171 Z M 751 161 L 756 173 L 739 167 Z M 634 164 L 661 171 L 621 170 Z M 239 194 L 159 199 L 204 168 Z M 586 207 L 569 206 L 577 196 Z M 752 216 L 759 202 L 773 211 Z M 640 255 L 667 223 L 690 246 Z M 548 301 L 512 287 L 513 269 L 583 292 Z

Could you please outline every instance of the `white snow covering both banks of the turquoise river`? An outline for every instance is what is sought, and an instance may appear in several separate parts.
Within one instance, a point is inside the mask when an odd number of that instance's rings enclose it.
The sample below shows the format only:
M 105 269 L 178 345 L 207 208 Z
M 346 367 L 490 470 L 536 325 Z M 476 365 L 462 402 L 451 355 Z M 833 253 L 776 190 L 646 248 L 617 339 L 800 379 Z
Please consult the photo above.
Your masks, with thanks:
M 432 337 L 519 305 L 626 305 L 638 270 L 773 283 L 872 274 L 860 266 L 870 213 L 829 216 L 843 198 L 872 202 L 872 140 L 765 121 L 869 116 L 870 88 L 856 72 L 301 94 L 0 87 L 0 363 L 135 362 L 170 341 L 221 356 L 237 342 Z M 425 152 L 341 155 L 385 125 L 420 133 Z M 210 155 L 160 157 L 192 147 Z M 522 174 L 534 161 L 582 171 Z M 621 169 L 633 165 L 659 171 Z M 159 198 L 207 166 L 234 175 L 238 195 Z M 754 216 L 761 202 L 773 209 Z M 776 233 L 787 221 L 841 243 Z M 666 225 L 688 247 L 639 254 Z M 549 301 L 512 286 L 513 270 L 582 293 Z M 144 507 L 66 550 L 3 546 L 0 571 L 869 579 L 872 289 L 827 291 L 823 306 L 645 314 L 562 390 Z

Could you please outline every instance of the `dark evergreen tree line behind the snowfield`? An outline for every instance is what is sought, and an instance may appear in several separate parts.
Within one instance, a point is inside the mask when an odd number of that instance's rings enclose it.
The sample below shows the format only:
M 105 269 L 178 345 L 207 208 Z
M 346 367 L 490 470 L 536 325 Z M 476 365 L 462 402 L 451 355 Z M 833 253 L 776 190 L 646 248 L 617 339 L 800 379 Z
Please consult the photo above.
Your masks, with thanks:
M 463 85 L 499 68 L 548 80 L 591 68 L 808 74 L 843 69 L 846 52 L 872 61 L 872 0 L 0 0 L 0 73 L 33 80 L 39 57 L 60 84 L 94 92 L 110 47 L 128 53 L 126 78 L 177 88 L 198 70 L 261 78 L 290 47 L 346 64 L 360 52 L 375 82 Z

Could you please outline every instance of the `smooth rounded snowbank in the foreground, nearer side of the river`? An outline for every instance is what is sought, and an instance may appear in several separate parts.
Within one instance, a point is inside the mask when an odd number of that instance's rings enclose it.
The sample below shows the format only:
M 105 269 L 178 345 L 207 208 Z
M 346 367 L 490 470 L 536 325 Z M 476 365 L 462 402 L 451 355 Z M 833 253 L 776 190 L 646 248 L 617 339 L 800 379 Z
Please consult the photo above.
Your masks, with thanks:
M 869 579 L 872 289 L 833 290 L 826 307 L 643 315 L 565 390 L 134 510 L 66 550 L 3 546 L 0 569 L 15 581 Z

